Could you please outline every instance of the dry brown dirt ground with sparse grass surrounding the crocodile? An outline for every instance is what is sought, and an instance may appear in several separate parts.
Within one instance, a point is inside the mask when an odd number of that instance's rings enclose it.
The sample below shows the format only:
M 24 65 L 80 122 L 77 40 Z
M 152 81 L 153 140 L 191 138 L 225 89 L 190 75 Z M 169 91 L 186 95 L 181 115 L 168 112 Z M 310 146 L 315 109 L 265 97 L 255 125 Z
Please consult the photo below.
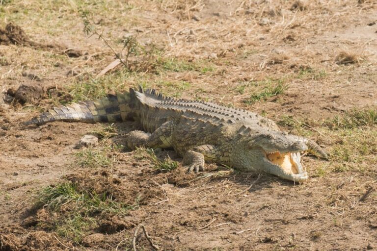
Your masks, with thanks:
M 375 0 L 2 0 L 0 18 L 0 251 L 132 250 L 141 225 L 160 250 L 377 250 Z M 122 39 L 127 67 L 98 76 Z M 186 175 L 122 148 L 135 122 L 20 125 L 137 84 L 256 111 L 329 160 L 304 156 L 304 184 Z M 65 184 L 81 197 L 38 201 Z M 135 248 L 153 250 L 141 227 Z

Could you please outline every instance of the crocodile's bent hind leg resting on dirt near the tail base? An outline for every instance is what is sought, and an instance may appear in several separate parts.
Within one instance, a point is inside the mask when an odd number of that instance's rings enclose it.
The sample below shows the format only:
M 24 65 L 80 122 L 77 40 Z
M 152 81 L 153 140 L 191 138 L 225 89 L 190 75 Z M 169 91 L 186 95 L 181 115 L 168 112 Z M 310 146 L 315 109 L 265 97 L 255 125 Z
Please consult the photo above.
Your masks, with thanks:
M 138 130 L 132 131 L 126 135 L 127 147 L 132 150 L 137 147 L 171 148 L 171 133 L 174 126 L 173 121 L 168 121 L 152 134 Z

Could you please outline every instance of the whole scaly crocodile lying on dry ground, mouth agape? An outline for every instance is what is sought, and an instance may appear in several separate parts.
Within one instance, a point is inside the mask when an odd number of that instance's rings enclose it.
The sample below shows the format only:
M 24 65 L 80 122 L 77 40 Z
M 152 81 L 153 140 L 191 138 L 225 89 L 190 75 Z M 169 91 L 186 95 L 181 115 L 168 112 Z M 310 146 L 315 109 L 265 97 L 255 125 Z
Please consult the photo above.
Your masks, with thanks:
M 257 113 L 166 97 L 141 87 L 94 101 L 60 105 L 25 125 L 127 120 L 135 120 L 143 128 L 126 134 L 128 148 L 174 149 L 183 157 L 187 172 L 204 171 L 205 162 L 214 162 L 303 182 L 308 174 L 301 165 L 300 152 L 327 158 L 313 140 L 280 131 L 272 120 Z

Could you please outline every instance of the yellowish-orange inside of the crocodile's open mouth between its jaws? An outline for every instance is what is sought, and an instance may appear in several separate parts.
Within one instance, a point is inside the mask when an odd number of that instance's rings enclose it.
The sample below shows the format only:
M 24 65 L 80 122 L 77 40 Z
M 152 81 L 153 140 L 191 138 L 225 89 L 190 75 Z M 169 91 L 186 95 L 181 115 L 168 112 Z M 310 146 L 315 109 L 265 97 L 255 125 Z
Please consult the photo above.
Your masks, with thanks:
M 300 164 L 301 156 L 299 152 L 274 152 L 267 154 L 268 160 L 281 168 L 288 175 L 303 174 L 306 172 Z

